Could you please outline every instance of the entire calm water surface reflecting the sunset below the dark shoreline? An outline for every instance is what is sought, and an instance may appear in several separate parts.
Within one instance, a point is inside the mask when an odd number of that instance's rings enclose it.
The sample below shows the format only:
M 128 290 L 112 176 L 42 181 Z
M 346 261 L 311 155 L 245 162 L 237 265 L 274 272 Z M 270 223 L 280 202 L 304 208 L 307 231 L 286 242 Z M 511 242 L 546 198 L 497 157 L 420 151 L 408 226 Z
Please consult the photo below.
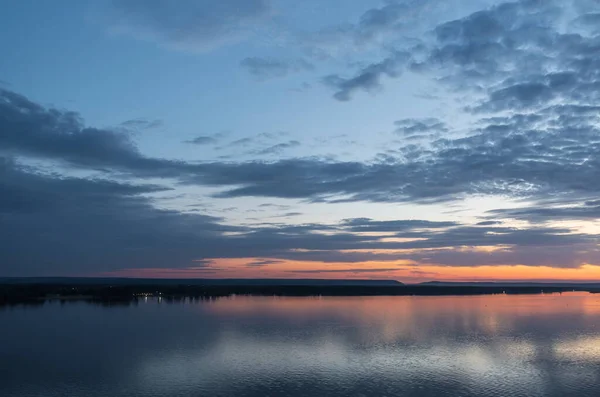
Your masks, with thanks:
M 0 309 L 0 396 L 598 396 L 600 295 Z

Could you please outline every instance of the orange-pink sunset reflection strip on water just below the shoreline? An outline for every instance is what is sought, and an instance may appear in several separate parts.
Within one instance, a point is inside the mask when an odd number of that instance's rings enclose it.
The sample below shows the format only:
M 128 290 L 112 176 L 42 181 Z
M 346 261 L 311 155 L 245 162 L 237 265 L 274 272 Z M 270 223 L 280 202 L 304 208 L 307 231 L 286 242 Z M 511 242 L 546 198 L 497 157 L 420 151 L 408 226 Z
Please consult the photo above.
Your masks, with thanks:
M 209 305 L 217 315 L 268 316 L 303 324 L 323 321 L 352 324 L 384 341 L 422 341 L 460 331 L 507 335 L 528 317 L 544 321 L 567 315 L 600 313 L 600 295 L 585 292 L 543 295 L 396 296 L 396 297 L 244 297 Z

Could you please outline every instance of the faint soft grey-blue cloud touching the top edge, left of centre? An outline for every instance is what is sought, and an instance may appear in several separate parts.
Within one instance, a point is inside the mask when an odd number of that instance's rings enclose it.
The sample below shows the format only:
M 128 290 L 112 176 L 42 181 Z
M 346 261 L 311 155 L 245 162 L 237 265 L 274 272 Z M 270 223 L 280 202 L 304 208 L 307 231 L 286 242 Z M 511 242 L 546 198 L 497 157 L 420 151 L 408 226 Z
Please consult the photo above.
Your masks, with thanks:
M 207 50 L 243 40 L 267 20 L 269 0 L 113 0 L 111 25 L 170 47 Z

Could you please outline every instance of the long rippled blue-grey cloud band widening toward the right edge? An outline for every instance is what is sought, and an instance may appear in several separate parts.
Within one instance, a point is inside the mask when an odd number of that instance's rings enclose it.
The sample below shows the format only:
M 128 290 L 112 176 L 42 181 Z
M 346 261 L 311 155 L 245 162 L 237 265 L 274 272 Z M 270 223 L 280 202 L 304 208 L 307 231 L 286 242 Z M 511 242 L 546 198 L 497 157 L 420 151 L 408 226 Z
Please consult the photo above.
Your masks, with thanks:
M 521 198 L 588 197 L 598 193 L 600 131 L 580 109 L 544 109 L 543 122 L 527 115 L 496 118 L 463 138 L 430 147 L 406 146 L 384 162 L 290 159 L 272 163 L 207 165 L 204 183 L 238 185 L 222 196 L 272 196 L 366 201 L 443 201 L 466 194 Z M 547 116 L 545 116 L 547 114 Z M 546 118 L 547 117 L 547 118 Z M 550 123 L 550 121 L 552 123 Z M 202 173 L 201 173 L 202 174 Z M 294 180 L 294 184 L 284 181 Z M 390 183 L 394 181 L 394 183 Z

